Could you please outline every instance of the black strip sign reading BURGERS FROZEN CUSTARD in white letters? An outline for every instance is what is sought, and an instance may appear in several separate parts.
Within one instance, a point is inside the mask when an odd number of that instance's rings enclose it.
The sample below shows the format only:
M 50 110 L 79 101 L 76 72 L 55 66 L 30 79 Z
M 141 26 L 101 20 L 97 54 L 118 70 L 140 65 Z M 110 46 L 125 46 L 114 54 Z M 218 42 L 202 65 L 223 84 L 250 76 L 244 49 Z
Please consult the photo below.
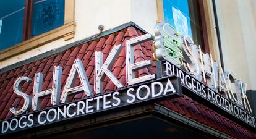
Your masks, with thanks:
M 163 76 L 176 75 L 181 79 L 181 85 L 190 90 L 183 91 L 182 93 L 184 93 L 185 95 L 196 95 L 197 98 L 203 98 L 211 104 L 218 106 L 223 111 L 226 111 L 232 116 L 242 120 L 246 124 L 254 128 L 256 127 L 256 117 L 252 116 L 252 114 L 250 114 L 249 112 L 244 111 L 244 109 L 237 106 L 232 101 L 229 101 L 227 98 L 220 95 L 220 93 L 217 93 L 216 91 L 212 90 L 207 85 L 204 85 L 202 82 L 199 82 L 196 78 L 190 76 L 189 74 L 187 74 L 187 72 L 184 72 L 184 70 L 180 69 L 179 67 L 176 67 L 176 65 L 165 61 L 163 62 L 163 69 Z

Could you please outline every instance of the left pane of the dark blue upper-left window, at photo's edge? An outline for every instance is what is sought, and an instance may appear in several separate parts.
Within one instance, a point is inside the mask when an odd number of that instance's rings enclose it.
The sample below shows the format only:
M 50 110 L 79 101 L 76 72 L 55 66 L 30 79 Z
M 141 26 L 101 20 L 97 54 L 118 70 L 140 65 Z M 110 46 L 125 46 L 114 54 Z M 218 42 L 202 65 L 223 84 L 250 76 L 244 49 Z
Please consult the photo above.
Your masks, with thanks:
M 22 41 L 25 0 L 0 4 L 0 50 Z

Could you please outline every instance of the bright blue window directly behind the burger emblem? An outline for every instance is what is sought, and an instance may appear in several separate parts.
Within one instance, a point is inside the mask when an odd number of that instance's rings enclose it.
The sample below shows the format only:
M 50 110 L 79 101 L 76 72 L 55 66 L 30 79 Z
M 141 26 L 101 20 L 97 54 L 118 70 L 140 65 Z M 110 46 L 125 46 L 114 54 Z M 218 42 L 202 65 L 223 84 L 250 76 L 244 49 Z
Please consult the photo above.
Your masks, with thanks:
M 173 25 L 182 36 L 189 35 L 202 46 L 197 2 L 194 0 L 163 0 L 164 21 Z

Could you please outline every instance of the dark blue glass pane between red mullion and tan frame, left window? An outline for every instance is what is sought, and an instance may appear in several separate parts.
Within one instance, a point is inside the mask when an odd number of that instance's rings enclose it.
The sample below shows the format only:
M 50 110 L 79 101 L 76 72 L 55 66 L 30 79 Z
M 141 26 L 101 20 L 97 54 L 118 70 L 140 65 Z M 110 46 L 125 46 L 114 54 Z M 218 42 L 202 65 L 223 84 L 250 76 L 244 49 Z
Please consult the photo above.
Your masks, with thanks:
M 33 1 L 32 36 L 64 25 L 64 0 Z

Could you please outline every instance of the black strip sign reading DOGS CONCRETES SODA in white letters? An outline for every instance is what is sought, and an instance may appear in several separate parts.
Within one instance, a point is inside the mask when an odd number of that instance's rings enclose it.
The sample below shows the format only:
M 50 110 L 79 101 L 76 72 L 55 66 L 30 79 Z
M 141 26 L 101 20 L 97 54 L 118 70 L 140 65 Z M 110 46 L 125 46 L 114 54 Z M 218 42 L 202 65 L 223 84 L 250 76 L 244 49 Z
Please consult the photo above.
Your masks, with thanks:
M 79 116 L 87 116 L 96 112 L 126 107 L 134 104 L 151 103 L 181 96 L 181 84 L 177 77 L 166 77 L 160 80 L 135 85 L 129 88 L 93 96 L 73 103 L 33 112 L 1 122 L 1 133 L 23 130 L 67 120 Z

